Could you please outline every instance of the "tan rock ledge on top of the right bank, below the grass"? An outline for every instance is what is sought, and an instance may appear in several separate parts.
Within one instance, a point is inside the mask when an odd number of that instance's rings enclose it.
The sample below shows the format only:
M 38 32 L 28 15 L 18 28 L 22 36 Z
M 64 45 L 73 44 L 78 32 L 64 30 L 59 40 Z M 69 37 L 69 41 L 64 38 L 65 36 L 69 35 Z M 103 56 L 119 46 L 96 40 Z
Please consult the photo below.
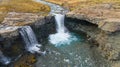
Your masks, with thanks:
M 82 8 L 69 12 L 67 17 L 87 20 L 107 32 L 120 30 L 120 9 L 115 9 L 112 4 Z

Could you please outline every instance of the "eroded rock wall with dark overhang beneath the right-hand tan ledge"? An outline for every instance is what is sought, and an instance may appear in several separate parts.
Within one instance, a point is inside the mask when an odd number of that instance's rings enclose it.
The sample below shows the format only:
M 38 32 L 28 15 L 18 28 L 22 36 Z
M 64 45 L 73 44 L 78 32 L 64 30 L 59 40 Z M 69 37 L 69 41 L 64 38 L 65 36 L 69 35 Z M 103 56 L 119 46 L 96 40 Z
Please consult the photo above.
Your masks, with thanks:
M 83 20 L 80 17 L 67 16 L 66 26 L 70 30 L 82 31 L 87 34 L 88 41 L 93 45 L 97 46 L 96 50 L 101 53 L 101 55 L 109 60 L 110 62 L 120 61 L 120 32 L 108 32 L 102 30 L 98 25 L 89 22 L 88 20 Z M 77 21 L 76 21 L 77 20 Z M 74 21 L 74 22 L 72 22 Z

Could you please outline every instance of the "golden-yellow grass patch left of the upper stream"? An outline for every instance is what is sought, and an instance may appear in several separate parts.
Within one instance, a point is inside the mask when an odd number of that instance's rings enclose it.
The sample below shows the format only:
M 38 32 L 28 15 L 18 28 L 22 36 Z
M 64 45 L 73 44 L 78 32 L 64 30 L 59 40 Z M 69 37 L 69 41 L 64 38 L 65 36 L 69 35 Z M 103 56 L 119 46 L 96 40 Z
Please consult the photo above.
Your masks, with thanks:
M 2 0 L 0 2 L 0 22 L 8 12 L 48 13 L 49 6 L 32 0 Z

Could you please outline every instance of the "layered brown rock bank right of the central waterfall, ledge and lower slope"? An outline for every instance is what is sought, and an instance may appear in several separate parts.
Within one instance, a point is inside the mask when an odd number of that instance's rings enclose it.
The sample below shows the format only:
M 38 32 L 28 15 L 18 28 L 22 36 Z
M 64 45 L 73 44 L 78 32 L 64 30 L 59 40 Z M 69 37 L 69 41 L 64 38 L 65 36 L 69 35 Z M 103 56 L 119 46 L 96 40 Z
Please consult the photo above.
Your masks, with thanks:
M 97 25 L 92 29 L 83 27 L 82 31 L 99 44 L 98 48 L 106 59 L 115 62 L 120 61 L 120 9 L 116 7 L 114 4 L 99 4 L 76 9 L 66 15 Z

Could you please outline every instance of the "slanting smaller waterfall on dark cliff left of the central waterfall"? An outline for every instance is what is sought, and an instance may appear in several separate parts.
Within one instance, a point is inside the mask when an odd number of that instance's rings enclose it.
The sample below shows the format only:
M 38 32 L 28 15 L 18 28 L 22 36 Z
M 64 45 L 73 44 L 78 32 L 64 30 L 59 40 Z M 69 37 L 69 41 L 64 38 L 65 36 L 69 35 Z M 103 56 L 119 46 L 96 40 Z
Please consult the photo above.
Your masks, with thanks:
M 20 29 L 20 34 L 26 44 L 26 49 L 31 53 L 40 53 L 40 44 L 30 26 L 24 26 Z

